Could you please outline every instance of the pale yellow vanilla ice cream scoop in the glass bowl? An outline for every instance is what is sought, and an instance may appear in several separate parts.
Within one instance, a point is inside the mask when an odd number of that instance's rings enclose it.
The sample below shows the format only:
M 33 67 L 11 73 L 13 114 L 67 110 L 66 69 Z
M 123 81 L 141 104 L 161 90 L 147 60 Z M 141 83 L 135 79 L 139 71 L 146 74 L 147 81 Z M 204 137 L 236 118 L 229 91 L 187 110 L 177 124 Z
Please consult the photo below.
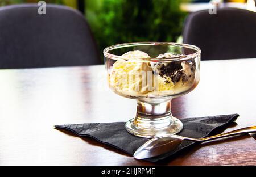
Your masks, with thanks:
M 147 53 L 135 50 L 123 54 L 124 59 L 150 58 Z M 110 87 L 134 94 L 146 94 L 154 84 L 154 75 L 147 62 L 118 60 L 110 73 Z M 149 76 L 149 77 L 148 77 Z

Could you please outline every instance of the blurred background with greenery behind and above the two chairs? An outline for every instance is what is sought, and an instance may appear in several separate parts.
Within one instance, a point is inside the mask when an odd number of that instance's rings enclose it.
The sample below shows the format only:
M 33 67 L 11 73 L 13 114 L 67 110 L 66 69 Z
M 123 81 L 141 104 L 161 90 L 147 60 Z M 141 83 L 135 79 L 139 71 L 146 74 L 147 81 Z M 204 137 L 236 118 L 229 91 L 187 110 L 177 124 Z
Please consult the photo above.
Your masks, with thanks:
M 255 2 L 248 0 L 249 3 Z M 84 14 L 100 52 L 109 45 L 135 41 L 182 42 L 186 16 L 209 9 L 211 3 L 233 3 L 248 8 L 247 0 L 46 0 Z M 38 3 L 36 0 L 0 0 L 0 6 Z M 255 6 L 255 3 L 254 3 Z

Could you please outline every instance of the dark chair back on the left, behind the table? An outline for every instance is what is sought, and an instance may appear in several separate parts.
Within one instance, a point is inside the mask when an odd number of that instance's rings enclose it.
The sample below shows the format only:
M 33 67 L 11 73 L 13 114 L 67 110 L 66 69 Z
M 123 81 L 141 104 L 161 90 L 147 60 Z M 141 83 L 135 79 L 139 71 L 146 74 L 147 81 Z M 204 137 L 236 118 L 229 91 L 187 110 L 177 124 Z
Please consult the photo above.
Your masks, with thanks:
M 100 64 L 90 27 L 77 10 L 36 4 L 0 8 L 0 68 Z

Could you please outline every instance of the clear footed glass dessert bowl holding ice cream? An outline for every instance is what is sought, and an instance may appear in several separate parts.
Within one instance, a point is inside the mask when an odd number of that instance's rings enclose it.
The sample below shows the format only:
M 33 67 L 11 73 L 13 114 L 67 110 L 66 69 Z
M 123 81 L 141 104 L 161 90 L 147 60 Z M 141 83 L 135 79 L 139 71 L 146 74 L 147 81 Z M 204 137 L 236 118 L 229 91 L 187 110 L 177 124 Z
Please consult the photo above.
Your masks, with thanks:
M 137 113 L 126 123 L 135 136 L 153 138 L 183 128 L 172 116 L 171 99 L 192 91 L 200 79 L 201 50 L 178 43 L 126 43 L 104 50 L 109 88 L 137 100 Z

